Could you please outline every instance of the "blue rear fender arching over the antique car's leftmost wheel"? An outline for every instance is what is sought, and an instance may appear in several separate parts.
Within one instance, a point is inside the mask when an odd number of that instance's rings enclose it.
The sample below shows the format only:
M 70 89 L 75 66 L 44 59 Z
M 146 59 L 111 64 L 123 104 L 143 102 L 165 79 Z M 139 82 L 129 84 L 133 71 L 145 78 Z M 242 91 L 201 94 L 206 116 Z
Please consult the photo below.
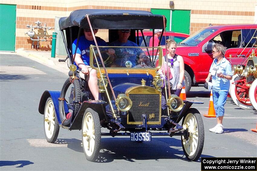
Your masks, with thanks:
M 39 106 L 38 106 L 38 112 L 44 115 L 46 101 L 48 97 L 51 97 L 54 103 L 54 110 L 55 110 L 59 124 L 61 123 L 61 119 L 59 116 L 59 100 L 58 100 L 58 98 L 60 97 L 60 93 L 61 93 L 60 91 L 45 90 L 41 96 Z

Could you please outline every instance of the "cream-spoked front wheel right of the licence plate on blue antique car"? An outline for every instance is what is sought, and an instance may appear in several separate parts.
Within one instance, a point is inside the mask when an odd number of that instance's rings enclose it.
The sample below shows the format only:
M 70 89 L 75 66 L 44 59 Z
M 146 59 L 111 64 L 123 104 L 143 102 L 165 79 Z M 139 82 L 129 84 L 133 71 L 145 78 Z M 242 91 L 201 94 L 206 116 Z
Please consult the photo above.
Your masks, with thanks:
M 189 119 L 189 120 L 188 120 Z M 187 121 L 194 120 L 195 124 L 188 125 Z M 204 144 L 204 127 L 203 127 L 203 119 L 201 114 L 197 109 L 190 108 L 187 111 L 187 114 L 184 116 L 182 125 L 184 129 L 188 130 L 189 138 L 186 140 L 185 136 L 181 136 L 182 148 L 185 156 L 188 160 L 196 161 L 199 159 L 200 155 L 203 151 Z M 196 126 L 196 128 L 194 128 Z M 198 134 L 196 134 L 196 131 Z M 194 132 L 194 133 L 193 133 Z M 197 137 L 197 141 L 196 141 Z M 188 145 L 192 142 L 190 145 Z M 195 148 L 196 147 L 196 148 Z

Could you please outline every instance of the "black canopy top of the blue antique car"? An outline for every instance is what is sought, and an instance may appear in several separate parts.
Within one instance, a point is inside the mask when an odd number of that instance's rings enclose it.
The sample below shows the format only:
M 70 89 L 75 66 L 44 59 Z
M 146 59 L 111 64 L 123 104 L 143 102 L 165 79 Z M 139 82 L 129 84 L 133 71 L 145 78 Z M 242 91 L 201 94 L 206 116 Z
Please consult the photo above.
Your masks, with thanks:
M 82 9 L 70 13 L 69 17 L 59 20 L 60 30 L 68 27 L 80 26 L 89 28 L 86 18 L 95 29 L 163 29 L 163 16 L 149 11 L 138 10 L 103 10 Z M 165 18 L 166 27 L 166 18 Z

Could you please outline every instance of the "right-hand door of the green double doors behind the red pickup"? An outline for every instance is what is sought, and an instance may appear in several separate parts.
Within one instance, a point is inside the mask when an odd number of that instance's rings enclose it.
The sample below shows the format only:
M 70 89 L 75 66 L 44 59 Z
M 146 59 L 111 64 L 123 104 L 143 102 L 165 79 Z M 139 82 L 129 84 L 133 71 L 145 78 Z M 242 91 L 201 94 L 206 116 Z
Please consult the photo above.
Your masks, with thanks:
M 190 11 L 171 10 L 171 31 L 190 33 Z

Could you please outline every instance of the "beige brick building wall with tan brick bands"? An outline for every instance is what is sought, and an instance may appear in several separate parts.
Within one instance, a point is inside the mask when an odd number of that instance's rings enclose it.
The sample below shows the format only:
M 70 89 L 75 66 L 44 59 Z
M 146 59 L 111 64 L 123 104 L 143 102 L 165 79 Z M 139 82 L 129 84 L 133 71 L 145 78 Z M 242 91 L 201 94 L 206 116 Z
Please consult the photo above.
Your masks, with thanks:
M 195 33 L 208 24 L 253 24 L 257 18 L 257 0 L 173 0 L 174 6 L 170 7 L 170 0 L 0 0 L 0 4 L 15 4 L 16 10 L 16 49 L 33 49 L 27 24 L 34 24 L 37 20 L 54 27 L 54 18 L 68 16 L 76 9 L 123 9 L 145 10 L 151 8 L 191 10 L 190 34 Z M 256 8 L 256 9 L 255 9 Z M 44 37 L 43 30 L 34 30 L 40 39 Z M 50 50 L 52 30 L 47 30 L 47 42 L 40 42 L 39 50 Z M 97 33 L 105 35 L 106 30 Z M 106 37 L 103 37 L 107 39 Z M 108 41 L 108 40 L 106 40 Z M 37 49 L 38 50 L 38 49 Z

